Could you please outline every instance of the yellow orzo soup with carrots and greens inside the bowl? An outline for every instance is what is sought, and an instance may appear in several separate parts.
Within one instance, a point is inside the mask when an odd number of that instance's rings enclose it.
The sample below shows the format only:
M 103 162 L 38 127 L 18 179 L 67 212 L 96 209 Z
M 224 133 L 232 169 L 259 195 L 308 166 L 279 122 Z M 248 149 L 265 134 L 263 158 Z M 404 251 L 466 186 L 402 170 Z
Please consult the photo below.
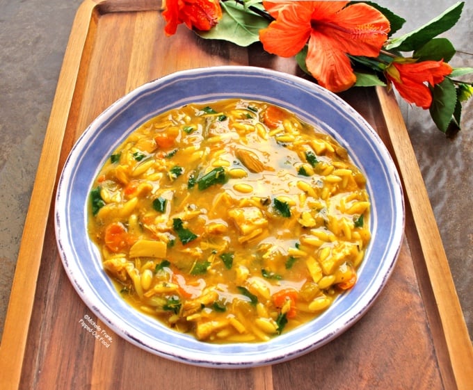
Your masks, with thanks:
M 120 295 L 178 332 L 267 341 L 351 289 L 365 178 L 335 140 L 262 101 L 189 104 L 141 125 L 90 193 Z

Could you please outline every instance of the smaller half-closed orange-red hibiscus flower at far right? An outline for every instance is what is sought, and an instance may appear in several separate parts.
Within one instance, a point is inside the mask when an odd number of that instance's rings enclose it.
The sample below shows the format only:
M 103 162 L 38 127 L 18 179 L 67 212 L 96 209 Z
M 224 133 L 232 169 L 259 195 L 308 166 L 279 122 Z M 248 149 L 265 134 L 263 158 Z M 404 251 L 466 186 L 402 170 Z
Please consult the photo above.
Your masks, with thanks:
M 409 103 L 427 109 L 432 104 L 432 93 L 426 83 L 431 86 L 441 83 L 451 73 L 451 66 L 440 61 L 422 61 L 419 63 L 396 62 L 386 69 L 386 77 L 394 84 L 399 95 Z

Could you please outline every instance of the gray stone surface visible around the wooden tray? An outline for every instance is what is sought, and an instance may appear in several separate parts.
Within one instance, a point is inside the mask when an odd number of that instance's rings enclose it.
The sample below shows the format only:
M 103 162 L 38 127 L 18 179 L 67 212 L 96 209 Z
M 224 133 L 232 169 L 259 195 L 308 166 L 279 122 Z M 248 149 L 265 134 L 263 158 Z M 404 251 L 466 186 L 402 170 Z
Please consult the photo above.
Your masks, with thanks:
M 22 229 L 56 82 L 79 0 L 0 0 L 0 335 Z M 382 0 L 415 29 L 455 1 Z M 452 63 L 473 67 L 473 1 L 445 34 L 463 51 Z M 398 35 L 398 34 L 396 34 Z M 467 54 L 470 53 L 470 54 Z M 470 76 L 471 81 L 471 76 Z M 464 106 L 463 131 L 446 140 L 427 112 L 401 101 L 426 181 L 470 335 L 473 334 L 473 105 Z

